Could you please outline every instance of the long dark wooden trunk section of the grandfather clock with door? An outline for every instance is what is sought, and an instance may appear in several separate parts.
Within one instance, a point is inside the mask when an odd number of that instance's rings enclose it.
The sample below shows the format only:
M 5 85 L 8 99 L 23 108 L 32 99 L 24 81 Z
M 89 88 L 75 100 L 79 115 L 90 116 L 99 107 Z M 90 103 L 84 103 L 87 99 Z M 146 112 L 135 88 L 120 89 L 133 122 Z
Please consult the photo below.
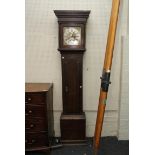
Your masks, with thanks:
M 82 54 L 62 55 L 63 113 L 82 113 Z

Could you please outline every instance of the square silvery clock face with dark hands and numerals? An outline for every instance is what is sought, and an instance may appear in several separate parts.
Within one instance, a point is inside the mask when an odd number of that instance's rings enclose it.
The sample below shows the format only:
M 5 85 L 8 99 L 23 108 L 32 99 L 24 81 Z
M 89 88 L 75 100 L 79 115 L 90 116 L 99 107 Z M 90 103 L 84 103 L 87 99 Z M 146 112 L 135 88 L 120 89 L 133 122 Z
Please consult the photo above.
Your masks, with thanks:
M 81 27 L 63 27 L 63 44 L 80 45 Z

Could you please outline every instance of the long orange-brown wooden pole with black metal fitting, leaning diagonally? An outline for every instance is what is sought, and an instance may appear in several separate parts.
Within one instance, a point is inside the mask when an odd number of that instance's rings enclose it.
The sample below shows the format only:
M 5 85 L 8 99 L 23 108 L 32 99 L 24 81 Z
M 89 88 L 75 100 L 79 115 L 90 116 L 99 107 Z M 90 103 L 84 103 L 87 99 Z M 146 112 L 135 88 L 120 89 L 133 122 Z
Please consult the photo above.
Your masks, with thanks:
M 108 93 L 108 87 L 110 84 L 110 70 L 112 65 L 119 5 L 120 5 L 120 0 L 113 0 L 106 53 L 105 53 L 104 66 L 103 66 L 103 74 L 101 78 L 98 113 L 97 113 L 96 127 L 95 127 L 95 133 L 94 133 L 94 145 L 93 145 L 94 155 L 97 155 L 99 150 L 100 137 L 101 137 L 104 113 L 106 108 L 107 93 Z

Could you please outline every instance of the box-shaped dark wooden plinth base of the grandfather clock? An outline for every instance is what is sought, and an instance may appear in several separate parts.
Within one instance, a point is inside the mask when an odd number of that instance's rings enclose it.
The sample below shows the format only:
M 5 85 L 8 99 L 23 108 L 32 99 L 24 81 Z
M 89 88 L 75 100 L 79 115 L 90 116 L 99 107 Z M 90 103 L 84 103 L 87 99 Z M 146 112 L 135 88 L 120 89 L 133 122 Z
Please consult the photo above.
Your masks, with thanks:
M 61 142 L 63 144 L 86 143 L 86 117 L 85 113 L 77 115 L 61 114 Z

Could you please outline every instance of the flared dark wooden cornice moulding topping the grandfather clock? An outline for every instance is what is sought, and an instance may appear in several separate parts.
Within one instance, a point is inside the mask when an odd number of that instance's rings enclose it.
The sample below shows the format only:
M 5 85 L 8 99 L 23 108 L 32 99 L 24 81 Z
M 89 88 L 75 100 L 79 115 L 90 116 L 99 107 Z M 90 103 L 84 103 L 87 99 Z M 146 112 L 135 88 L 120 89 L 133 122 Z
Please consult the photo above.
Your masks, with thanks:
M 54 13 L 59 23 L 71 21 L 85 23 L 89 17 L 90 10 L 54 10 Z

